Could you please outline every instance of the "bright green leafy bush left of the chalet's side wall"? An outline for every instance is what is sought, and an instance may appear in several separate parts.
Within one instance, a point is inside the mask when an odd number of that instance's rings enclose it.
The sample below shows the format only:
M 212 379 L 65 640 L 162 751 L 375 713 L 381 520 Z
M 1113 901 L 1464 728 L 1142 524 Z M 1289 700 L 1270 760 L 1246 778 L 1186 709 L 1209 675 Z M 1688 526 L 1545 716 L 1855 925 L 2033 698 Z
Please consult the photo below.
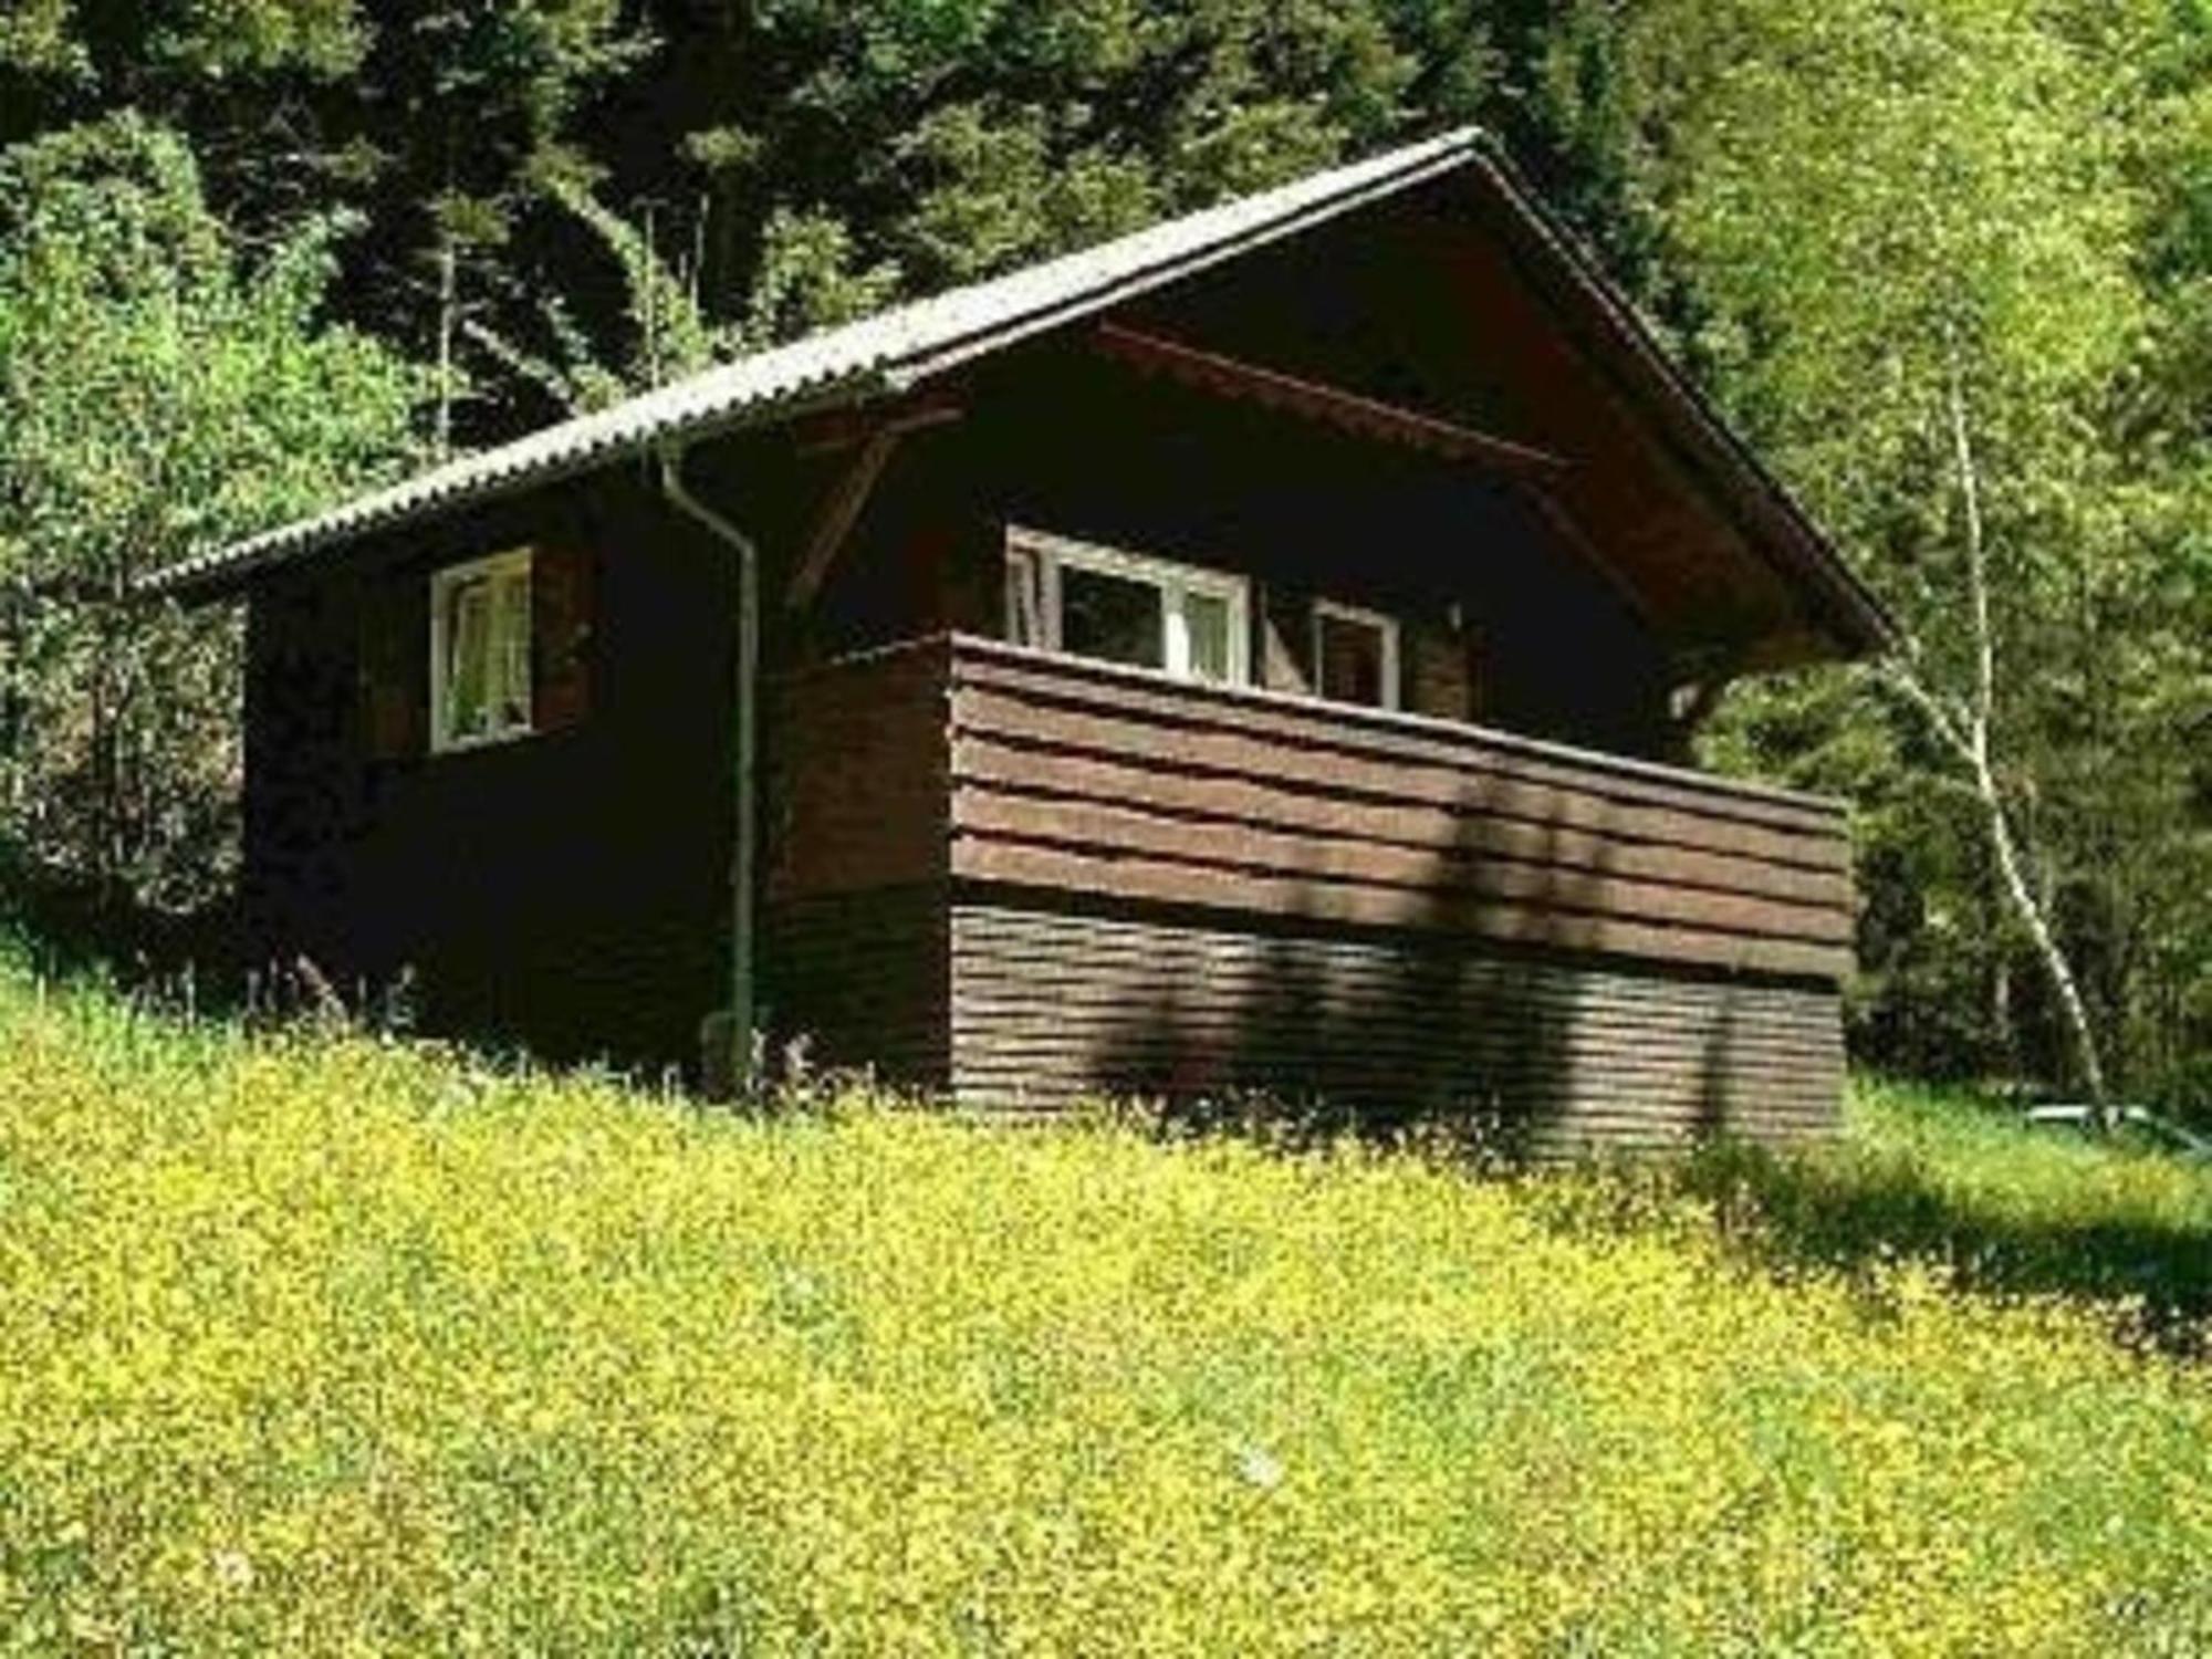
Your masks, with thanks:
M 142 900 L 219 891 L 234 619 L 126 604 L 409 453 L 418 383 L 316 323 L 330 228 L 246 265 L 135 119 L 0 153 L 0 834 Z

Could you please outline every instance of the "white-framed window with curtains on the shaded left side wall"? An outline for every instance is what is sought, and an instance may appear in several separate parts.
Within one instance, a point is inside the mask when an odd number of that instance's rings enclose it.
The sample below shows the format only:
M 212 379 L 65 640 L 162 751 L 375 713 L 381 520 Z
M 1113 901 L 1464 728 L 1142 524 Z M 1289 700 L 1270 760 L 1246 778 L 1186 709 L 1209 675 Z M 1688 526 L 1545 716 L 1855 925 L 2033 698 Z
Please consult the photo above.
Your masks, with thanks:
M 531 551 L 429 580 L 429 745 L 504 743 L 531 730 Z

